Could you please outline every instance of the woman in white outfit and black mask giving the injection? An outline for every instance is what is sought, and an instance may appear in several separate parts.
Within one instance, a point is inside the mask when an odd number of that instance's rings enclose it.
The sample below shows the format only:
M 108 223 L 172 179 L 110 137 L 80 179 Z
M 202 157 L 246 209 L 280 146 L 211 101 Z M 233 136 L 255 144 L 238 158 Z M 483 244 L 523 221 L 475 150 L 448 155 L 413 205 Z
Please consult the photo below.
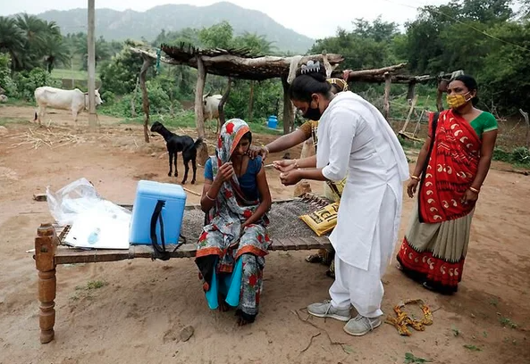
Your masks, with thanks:
M 290 85 L 290 99 L 304 116 L 320 120 L 314 157 L 275 161 L 286 186 L 300 179 L 340 181 L 348 176 L 337 226 L 331 301 L 307 307 L 310 314 L 348 322 L 350 335 L 381 325 L 384 270 L 400 227 L 402 184 L 408 162 L 397 136 L 374 105 L 352 92 L 332 95 L 319 62 L 307 62 Z M 350 305 L 358 315 L 351 318 Z

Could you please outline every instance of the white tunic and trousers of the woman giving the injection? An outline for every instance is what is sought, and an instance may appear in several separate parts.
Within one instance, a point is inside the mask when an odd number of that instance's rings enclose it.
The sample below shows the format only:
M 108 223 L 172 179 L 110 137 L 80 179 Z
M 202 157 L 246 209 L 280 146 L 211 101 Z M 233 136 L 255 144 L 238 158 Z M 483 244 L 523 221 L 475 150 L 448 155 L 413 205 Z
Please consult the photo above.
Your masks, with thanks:
M 332 181 L 348 174 L 330 236 L 336 254 L 332 304 L 381 316 L 381 277 L 398 237 L 407 157 L 381 112 L 343 92 L 320 119 L 316 166 Z

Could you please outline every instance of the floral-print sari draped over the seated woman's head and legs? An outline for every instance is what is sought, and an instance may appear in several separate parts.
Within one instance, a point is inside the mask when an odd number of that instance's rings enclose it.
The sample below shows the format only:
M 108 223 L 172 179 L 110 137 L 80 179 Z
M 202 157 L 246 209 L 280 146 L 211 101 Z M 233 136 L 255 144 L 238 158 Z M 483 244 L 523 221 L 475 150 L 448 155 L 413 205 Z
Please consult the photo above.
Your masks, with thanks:
M 228 120 L 218 137 L 212 158 L 214 178 L 219 168 L 231 160 L 240 139 L 250 129 L 245 121 Z M 257 223 L 241 229 L 252 216 L 259 201 L 248 201 L 241 192 L 237 176 L 223 184 L 214 207 L 208 212 L 208 224 L 198 239 L 196 263 L 203 280 L 206 300 L 216 309 L 222 299 L 247 322 L 256 318 L 263 285 L 265 255 L 270 244 L 264 215 Z M 235 279 L 240 277 L 240 279 Z M 214 294 L 218 292 L 219 294 Z

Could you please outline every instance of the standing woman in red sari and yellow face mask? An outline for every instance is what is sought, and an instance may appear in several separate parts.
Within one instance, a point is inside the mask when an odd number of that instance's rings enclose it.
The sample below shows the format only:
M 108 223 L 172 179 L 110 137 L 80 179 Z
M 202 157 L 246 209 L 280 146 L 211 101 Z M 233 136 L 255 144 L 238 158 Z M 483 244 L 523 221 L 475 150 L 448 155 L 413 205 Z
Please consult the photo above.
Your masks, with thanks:
M 475 108 L 475 79 L 447 88 L 450 110 L 431 115 L 429 135 L 408 183 L 417 208 L 398 253 L 398 268 L 425 288 L 453 294 L 462 279 L 471 219 L 490 170 L 497 120 Z

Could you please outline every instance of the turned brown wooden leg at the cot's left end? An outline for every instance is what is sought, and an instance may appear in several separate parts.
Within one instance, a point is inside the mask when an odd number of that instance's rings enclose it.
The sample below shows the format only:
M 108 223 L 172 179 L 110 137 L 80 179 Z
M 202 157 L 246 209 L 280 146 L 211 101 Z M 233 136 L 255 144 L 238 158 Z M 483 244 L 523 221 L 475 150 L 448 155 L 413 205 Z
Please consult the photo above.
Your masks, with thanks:
M 38 227 L 37 237 L 35 238 L 35 266 L 38 270 L 40 343 L 49 343 L 54 340 L 55 336 L 56 246 L 57 236 L 52 224 L 42 224 Z

